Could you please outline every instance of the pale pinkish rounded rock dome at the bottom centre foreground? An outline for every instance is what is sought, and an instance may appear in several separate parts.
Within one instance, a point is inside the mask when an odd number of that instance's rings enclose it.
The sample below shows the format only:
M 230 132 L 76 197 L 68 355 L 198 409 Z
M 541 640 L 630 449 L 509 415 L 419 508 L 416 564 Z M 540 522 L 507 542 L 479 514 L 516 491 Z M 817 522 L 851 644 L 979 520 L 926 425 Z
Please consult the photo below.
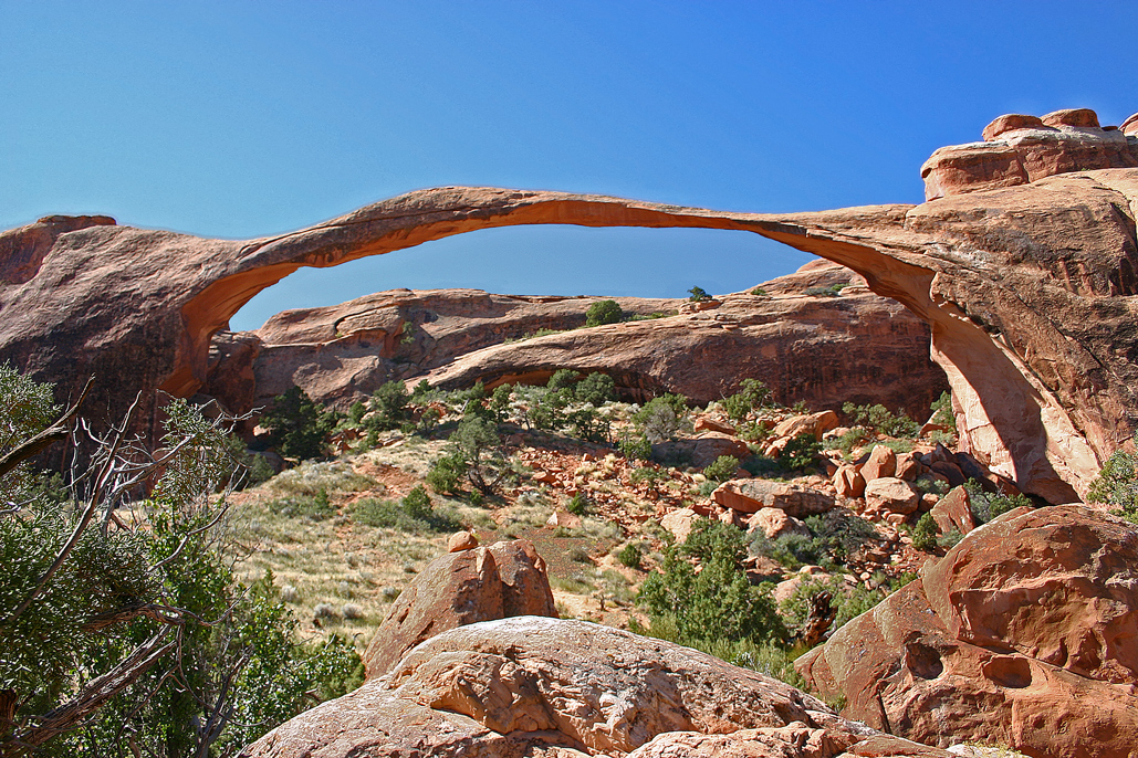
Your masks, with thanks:
M 732 739 L 699 747 L 699 735 Z M 743 751 L 734 755 L 781 758 L 948 756 L 877 734 L 782 682 L 690 648 L 530 616 L 444 632 L 241 756 L 644 758 L 711 755 L 712 744 L 728 743 Z M 690 744 L 704 752 L 686 752 Z

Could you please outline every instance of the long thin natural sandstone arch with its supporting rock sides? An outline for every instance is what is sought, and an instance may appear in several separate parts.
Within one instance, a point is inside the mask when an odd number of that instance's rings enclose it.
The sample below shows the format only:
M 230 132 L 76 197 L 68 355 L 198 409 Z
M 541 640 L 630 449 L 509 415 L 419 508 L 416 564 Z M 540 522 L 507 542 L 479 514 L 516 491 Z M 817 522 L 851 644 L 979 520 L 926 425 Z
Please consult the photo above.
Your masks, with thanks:
M 15 261 L 0 286 L 0 357 L 65 392 L 94 373 L 112 417 L 142 392 L 149 430 L 155 390 L 199 391 L 213 335 L 300 266 L 517 224 L 742 230 L 848 266 L 926 320 L 962 442 L 1063 502 L 1138 430 L 1136 210 L 1138 168 L 1105 168 L 916 207 L 789 215 L 443 188 L 249 242 L 48 219 L 0 235 Z

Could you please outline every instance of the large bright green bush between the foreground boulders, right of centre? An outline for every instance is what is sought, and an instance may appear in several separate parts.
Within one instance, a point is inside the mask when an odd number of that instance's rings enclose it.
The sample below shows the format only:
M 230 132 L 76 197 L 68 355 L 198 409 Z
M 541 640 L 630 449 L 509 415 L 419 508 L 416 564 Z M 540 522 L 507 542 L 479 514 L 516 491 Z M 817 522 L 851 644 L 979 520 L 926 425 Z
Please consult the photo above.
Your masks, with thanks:
M 677 642 L 784 641 L 786 630 L 769 585 L 752 586 L 747 544 L 734 526 L 699 519 L 687 540 L 665 550 L 660 573 L 641 585 L 636 602 L 652 623 L 674 625 Z M 696 573 L 693 561 L 701 567 Z

